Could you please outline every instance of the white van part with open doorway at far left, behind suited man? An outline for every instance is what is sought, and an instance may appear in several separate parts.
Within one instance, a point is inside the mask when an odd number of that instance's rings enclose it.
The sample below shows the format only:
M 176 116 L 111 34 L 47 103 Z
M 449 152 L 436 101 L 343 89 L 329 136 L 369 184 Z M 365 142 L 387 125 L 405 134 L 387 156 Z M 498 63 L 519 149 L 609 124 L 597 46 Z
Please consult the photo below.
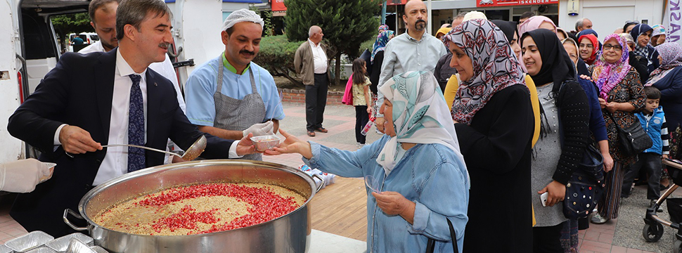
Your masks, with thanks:
M 0 163 L 36 157 L 7 131 L 8 118 L 60 57 L 51 15 L 88 11 L 82 0 L 0 1 Z

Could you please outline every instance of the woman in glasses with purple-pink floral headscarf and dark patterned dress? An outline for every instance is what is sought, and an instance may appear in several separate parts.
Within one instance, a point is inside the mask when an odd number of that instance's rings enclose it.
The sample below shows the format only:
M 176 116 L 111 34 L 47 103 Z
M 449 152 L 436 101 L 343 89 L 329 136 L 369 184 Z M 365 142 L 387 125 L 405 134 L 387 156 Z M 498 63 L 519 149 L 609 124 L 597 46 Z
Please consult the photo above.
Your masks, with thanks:
M 592 223 L 605 223 L 618 217 L 623 177 L 626 169 L 636 160 L 636 155 L 625 155 L 620 150 L 616 127 L 616 124 L 623 128 L 638 122 L 634 112 L 641 110 L 646 100 L 639 75 L 628 64 L 628 51 L 626 40 L 618 34 L 611 34 L 604 39 L 603 51 L 597 63 L 588 67 L 599 90 L 599 103 L 609 138 L 609 153 L 615 160 L 613 169 L 605 175 L 605 193 L 597 204 L 598 212 L 592 216 Z

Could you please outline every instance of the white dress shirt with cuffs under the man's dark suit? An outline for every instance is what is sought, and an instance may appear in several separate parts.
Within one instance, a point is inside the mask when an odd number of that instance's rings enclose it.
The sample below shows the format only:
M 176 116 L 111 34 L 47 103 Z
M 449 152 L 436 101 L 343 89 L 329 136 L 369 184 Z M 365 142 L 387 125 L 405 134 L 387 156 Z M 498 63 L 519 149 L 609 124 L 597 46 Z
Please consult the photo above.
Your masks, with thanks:
M 147 129 L 147 69 L 141 73 L 135 72 L 132 67 L 121 56 L 121 51 L 116 51 L 116 69 L 114 74 L 114 93 L 111 101 L 111 117 L 109 124 L 109 142 L 110 144 L 127 144 L 128 143 L 128 110 L 130 104 L 130 89 L 133 81 L 129 74 L 139 74 L 140 89 L 142 90 L 142 102 L 144 108 L 144 129 Z M 61 145 L 59 141 L 59 132 L 67 124 L 62 124 L 58 127 L 54 143 Z M 144 134 L 145 143 L 147 142 L 147 131 Z M 229 150 L 229 158 L 238 158 L 240 156 L 236 153 L 236 148 L 239 141 L 234 141 Z M 128 147 L 108 147 L 107 152 L 102 160 L 94 181 L 93 186 L 98 186 L 109 179 L 116 176 L 126 174 L 128 172 Z

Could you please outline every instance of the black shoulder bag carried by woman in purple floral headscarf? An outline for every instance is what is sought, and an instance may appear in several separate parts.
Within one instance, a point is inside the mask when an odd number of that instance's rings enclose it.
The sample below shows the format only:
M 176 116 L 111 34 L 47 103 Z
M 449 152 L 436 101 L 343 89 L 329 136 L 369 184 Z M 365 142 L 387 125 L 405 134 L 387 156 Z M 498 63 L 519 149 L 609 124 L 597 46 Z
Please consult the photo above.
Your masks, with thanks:
M 651 141 L 651 137 L 646 134 L 639 123 L 639 119 L 635 120 L 633 124 L 622 128 L 611 113 L 607 113 L 607 115 L 611 118 L 613 124 L 616 125 L 616 129 L 618 129 L 618 143 L 620 143 L 620 148 L 625 155 L 639 155 L 654 144 Z

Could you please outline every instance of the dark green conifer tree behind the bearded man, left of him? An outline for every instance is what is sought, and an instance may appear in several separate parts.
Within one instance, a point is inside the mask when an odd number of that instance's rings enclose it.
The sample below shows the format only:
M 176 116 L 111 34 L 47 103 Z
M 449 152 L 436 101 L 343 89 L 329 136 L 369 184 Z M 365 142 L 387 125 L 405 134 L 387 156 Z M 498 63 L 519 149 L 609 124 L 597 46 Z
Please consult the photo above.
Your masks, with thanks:
M 380 0 L 284 0 L 284 4 L 287 6 L 284 25 L 289 40 L 306 40 L 312 25 L 322 27 L 327 55 L 337 59 L 335 72 L 340 71 L 341 54 L 358 57 L 360 44 L 373 39 L 379 26 L 375 17 L 381 10 Z M 338 75 L 334 82 L 338 84 Z

